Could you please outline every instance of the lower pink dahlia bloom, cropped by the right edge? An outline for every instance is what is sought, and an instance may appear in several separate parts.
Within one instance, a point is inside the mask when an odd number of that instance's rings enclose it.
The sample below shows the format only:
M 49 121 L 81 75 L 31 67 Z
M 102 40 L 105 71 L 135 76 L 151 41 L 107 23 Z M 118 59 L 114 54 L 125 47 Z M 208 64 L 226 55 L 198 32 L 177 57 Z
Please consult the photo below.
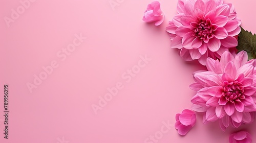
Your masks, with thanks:
M 205 112 L 203 122 L 220 121 L 223 131 L 231 124 L 238 128 L 252 123 L 256 111 L 256 68 L 254 59 L 247 61 L 247 53 L 236 56 L 224 52 L 220 61 L 208 58 L 208 71 L 194 75 L 196 83 L 190 88 L 197 91 L 191 99 L 193 110 Z

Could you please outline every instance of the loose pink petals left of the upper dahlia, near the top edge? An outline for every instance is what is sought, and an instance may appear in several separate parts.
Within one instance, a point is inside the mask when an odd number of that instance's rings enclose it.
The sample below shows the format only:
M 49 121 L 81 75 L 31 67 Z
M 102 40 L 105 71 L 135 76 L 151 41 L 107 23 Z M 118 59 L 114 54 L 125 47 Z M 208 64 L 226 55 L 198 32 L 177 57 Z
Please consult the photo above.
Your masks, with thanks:
M 164 14 L 160 9 L 160 3 L 158 1 L 152 2 L 147 5 L 147 9 L 144 13 L 143 21 L 155 22 L 155 26 L 161 25 L 164 20 Z

